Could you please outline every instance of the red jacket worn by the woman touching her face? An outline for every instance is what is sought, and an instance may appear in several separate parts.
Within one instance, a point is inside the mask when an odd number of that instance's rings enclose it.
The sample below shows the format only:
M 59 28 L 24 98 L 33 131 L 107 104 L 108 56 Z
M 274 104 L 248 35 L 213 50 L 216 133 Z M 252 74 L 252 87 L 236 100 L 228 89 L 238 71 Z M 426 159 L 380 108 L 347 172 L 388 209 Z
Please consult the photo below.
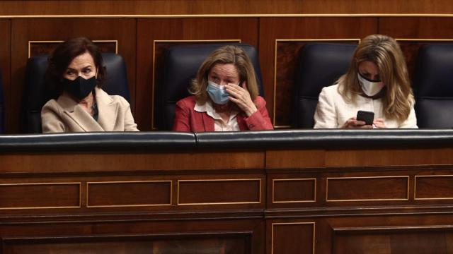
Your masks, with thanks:
M 173 131 L 214 131 L 214 119 L 211 116 L 208 116 L 206 112 L 195 111 L 195 104 L 195 96 L 185 97 L 176 102 Z M 263 97 L 257 96 L 255 104 L 258 111 L 251 116 L 247 117 L 243 112 L 236 116 L 239 129 L 241 129 L 241 131 L 273 130 L 273 125 L 270 123 L 268 110 L 265 107 L 266 102 Z

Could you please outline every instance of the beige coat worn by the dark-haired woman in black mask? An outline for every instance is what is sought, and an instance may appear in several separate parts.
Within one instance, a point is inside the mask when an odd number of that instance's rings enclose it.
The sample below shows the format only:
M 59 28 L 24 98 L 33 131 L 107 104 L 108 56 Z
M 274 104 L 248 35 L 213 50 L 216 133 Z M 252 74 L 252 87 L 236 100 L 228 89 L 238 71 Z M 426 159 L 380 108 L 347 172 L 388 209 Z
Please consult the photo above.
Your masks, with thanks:
M 86 131 L 139 131 L 129 103 L 121 96 L 110 96 L 96 87 L 98 121 L 69 95 L 51 99 L 41 110 L 42 133 Z

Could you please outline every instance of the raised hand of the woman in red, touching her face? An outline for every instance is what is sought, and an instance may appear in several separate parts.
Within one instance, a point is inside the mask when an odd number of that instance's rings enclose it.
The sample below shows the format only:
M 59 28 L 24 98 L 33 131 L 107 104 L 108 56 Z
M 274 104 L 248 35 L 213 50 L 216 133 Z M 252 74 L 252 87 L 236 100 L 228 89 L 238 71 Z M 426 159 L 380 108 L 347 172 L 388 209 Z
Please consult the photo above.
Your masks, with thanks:
M 250 93 L 247 90 L 246 81 L 243 81 L 242 86 L 232 83 L 225 85 L 226 92 L 229 93 L 229 100 L 236 103 L 247 116 L 251 116 L 253 113 L 258 111 L 255 104 L 250 97 Z

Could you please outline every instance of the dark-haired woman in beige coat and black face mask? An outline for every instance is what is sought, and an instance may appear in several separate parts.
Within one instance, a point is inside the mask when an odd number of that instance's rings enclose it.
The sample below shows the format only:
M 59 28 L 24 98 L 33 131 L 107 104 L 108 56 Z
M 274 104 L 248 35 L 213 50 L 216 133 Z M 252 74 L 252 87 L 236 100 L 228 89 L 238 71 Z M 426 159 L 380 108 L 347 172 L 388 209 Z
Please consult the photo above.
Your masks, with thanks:
M 138 131 L 130 104 L 101 89 L 105 70 L 93 42 L 62 42 L 49 58 L 46 82 L 58 96 L 41 111 L 42 132 Z

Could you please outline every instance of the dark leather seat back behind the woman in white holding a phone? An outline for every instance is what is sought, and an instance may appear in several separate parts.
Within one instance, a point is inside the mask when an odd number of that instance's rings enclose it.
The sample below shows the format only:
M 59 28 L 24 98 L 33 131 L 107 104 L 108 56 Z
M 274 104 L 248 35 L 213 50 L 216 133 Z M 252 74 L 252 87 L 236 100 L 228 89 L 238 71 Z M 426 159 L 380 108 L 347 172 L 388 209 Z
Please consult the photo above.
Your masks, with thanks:
M 302 47 L 292 98 L 294 128 L 313 128 L 319 93 L 348 71 L 356 47 L 357 44 L 345 43 L 313 43 Z

